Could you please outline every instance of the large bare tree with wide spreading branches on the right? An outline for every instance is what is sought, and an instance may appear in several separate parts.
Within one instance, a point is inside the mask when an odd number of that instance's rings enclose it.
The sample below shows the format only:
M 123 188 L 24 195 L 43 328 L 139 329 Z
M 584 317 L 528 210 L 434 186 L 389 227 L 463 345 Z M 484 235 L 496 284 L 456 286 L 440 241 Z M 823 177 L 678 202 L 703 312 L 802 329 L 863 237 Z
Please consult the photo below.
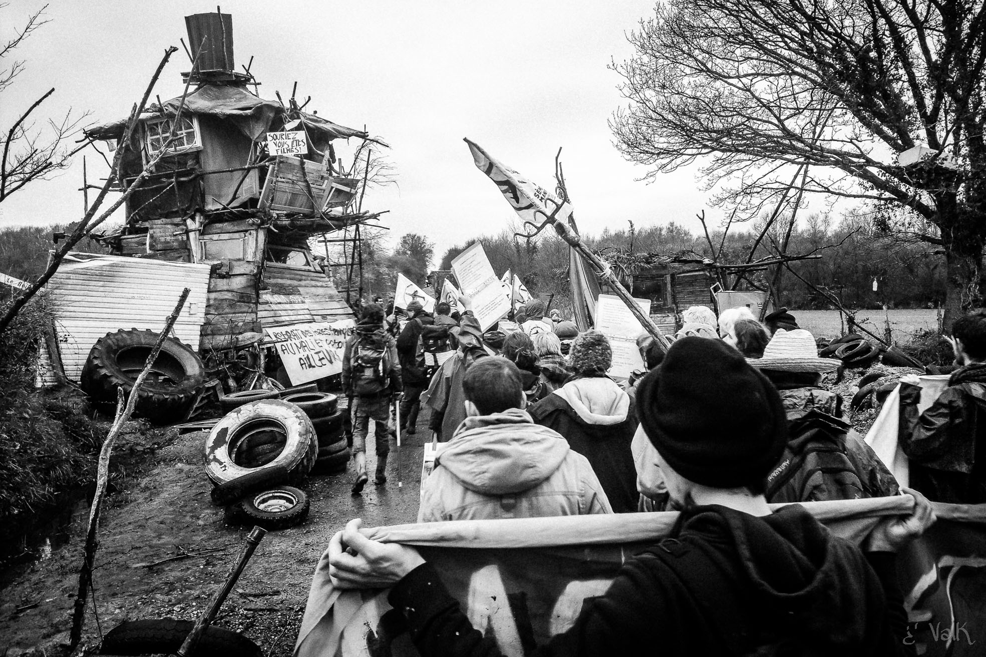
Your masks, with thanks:
M 698 162 L 716 201 L 751 218 L 800 169 L 806 194 L 942 246 L 946 325 L 978 301 L 982 0 L 669 0 L 629 38 L 611 128 L 648 177 Z

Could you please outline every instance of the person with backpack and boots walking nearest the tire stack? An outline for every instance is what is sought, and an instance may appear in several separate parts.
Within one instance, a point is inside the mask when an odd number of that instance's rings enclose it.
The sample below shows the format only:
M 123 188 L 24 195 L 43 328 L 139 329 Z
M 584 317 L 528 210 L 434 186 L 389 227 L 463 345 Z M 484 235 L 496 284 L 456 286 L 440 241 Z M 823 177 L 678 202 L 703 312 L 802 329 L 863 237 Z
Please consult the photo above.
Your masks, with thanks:
M 390 398 L 402 389 L 397 346 L 384 328 L 384 309 L 376 303 L 364 306 L 363 316 L 342 350 L 342 390 L 352 399 L 353 459 L 356 481 L 353 493 L 363 492 L 367 484 L 366 438 L 374 421 L 377 440 L 378 486 L 387 483 L 387 454 L 390 453 L 387 423 Z

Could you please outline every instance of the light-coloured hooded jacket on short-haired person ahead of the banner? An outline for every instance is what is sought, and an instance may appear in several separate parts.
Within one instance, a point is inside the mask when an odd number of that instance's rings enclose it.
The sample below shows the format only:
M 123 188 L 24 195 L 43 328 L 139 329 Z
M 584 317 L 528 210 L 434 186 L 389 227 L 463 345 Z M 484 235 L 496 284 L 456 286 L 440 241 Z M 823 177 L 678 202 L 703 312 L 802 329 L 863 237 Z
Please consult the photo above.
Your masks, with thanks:
M 418 522 L 610 513 L 589 461 L 521 409 L 462 421 L 435 460 Z

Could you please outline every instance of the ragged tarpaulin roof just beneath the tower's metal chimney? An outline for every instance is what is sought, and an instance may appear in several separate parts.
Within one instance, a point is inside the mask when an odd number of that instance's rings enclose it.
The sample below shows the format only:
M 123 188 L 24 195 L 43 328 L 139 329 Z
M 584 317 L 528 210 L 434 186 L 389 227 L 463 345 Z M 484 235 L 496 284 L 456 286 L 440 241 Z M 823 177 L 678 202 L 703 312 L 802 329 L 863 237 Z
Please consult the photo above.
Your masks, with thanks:
M 174 116 L 180 103 L 181 97 L 165 100 L 163 109 L 166 114 Z M 279 124 L 283 124 L 284 107 L 275 100 L 264 100 L 253 96 L 242 87 L 203 85 L 189 92 L 188 96 L 185 97 L 182 112 L 207 114 L 229 119 L 247 137 L 253 141 L 258 141 L 268 131 L 275 117 L 278 118 Z M 144 121 L 160 116 L 159 112 L 144 112 L 140 118 Z M 319 143 L 322 144 L 318 150 L 324 150 L 324 144 L 339 137 L 367 136 L 367 133 L 362 130 L 347 128 L 314 114 L 302 112 L 302 121 L 316 147 L 318 148 Z M 280 125 L 275 127 L 280 127 Z M 125 128 L 126 117 L 90 128 L 86 133 L 96 139 L 119 139 L 123 136 Z

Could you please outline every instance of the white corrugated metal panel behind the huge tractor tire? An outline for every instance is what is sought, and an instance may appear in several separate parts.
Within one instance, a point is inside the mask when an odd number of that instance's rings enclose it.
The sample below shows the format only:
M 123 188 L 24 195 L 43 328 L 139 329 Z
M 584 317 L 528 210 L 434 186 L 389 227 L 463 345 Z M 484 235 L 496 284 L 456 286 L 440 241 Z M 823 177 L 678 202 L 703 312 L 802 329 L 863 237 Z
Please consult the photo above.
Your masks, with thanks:
M 69 254 L 47 285 L 68 379 L 79 380 L 90 350 L 106 333 L 130 328 L 160 331 L 184 288 L 191 293 L 175 335 L 198 350 L 209 270 L 209 265 Z

